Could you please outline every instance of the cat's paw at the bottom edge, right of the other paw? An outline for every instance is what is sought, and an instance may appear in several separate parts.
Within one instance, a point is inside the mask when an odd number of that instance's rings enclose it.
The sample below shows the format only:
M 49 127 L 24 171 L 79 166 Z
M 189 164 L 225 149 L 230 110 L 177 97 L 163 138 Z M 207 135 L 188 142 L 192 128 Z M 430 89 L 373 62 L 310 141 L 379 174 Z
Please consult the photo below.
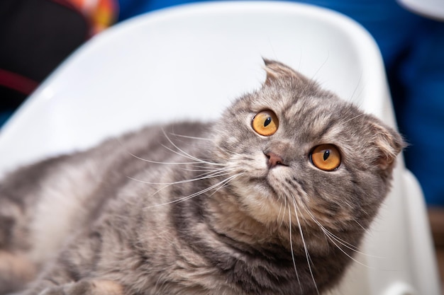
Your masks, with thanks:
M 112 281 L 79 281 L 45 289 L 39 295 L 123 295 L 123 287 Z

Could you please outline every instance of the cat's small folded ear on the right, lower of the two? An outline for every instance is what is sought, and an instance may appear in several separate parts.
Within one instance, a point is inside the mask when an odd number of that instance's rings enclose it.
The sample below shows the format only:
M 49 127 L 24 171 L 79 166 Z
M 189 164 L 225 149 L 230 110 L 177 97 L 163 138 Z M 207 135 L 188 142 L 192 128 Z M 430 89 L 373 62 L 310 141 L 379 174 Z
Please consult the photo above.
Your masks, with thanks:
M 396 156 L 406 146 L 404 140 L 398 132 L 380 122 L 371 122 L 371 128 L 374 134 L 373 142 L 379 150 L 377 165 L 382 170 L 393 168 Z

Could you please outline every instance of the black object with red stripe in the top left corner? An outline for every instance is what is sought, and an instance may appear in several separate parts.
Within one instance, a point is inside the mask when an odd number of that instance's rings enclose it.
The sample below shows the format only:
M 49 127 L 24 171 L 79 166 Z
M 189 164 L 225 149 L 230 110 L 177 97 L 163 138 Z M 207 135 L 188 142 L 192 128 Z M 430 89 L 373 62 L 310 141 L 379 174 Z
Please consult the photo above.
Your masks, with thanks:
M 0 1 L 0 125 L 89 32 L 66 0 Z

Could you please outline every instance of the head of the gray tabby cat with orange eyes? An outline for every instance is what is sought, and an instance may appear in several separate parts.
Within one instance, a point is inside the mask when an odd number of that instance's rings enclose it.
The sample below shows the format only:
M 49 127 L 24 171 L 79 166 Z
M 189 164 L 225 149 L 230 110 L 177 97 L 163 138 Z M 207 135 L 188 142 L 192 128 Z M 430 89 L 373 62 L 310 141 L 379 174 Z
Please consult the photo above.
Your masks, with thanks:
M 400 135 L 284 64 L 266 60 L 265 70 L 262 88 L 214 128 L 240 206 L 265 224 L 367 226 L 389 190 Z

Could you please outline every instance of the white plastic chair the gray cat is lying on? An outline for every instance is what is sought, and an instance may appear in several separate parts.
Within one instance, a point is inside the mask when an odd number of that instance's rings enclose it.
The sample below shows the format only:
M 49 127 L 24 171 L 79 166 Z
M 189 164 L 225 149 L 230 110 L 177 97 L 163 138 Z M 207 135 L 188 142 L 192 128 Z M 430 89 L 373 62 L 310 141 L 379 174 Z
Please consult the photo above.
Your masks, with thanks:
M 260 86 L 262 57 L 394 125 L 382 59 L 360 25 L 301 4 L 194 4 L 133 18 L 72 54 L 1 130 L 0 173 L 140 125 L 217 117 Z M 440 294 L 421 189 L 403 161 L 394 174 L 366 255 L 334 294 Z

